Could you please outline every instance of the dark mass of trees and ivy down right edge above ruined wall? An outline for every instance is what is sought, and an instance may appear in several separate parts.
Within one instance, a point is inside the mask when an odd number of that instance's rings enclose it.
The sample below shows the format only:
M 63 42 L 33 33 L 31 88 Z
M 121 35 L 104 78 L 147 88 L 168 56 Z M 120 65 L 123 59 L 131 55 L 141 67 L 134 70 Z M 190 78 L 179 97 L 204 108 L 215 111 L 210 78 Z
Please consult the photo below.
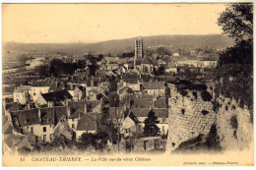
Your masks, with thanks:
M 216 92 L 248 107 L 253 117 L 253 5 L 229 5 L 219 18 L 224 34 L 236 44 L 220 55 L 216 69 Z

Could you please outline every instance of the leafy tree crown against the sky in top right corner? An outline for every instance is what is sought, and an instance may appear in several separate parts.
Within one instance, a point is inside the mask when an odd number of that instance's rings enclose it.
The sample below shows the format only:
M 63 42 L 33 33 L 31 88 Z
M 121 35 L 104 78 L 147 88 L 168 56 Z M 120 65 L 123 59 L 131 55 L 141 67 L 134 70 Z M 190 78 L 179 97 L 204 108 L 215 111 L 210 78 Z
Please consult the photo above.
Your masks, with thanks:
M 218 19 L 224 34 L 234 38 L 236 42 L 253 37 L 253 4 L 235 3 L 227 6 Z

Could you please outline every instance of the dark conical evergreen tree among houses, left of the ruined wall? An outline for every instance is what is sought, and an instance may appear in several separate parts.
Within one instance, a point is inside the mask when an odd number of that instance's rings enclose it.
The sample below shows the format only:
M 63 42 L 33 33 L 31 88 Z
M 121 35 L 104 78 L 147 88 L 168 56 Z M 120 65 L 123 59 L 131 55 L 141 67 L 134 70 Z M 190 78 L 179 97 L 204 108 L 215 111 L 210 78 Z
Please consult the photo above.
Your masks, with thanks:
M 144 132 L 147 137 L 156 137 L 160 133 L 160 128 L 158 127 L 158 117 L 156 116 L 156 113 L 151 110 L 148 114 L 148 118 L 144 121 L 145 127 Z

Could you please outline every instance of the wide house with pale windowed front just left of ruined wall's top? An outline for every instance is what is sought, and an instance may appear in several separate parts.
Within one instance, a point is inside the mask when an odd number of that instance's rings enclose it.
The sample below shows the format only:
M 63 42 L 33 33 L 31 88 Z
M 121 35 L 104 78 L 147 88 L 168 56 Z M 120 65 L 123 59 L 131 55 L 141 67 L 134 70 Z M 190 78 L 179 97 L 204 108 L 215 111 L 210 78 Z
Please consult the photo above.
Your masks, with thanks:
M 154 96 L 165 95 L 164 82 L 149 82 L 143 83 L 143 92 Z

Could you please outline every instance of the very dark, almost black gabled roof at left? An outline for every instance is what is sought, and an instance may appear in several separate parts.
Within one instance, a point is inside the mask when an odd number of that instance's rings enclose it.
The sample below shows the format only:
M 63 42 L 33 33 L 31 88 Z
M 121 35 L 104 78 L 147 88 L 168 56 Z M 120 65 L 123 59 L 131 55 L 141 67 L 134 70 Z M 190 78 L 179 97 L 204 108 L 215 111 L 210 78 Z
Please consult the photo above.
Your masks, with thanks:
M 41 94 L 46 101 L 64 101 L 66 98 L 72 98 L 72 95 L 67 89 L 53 91 L 49 93 Z

